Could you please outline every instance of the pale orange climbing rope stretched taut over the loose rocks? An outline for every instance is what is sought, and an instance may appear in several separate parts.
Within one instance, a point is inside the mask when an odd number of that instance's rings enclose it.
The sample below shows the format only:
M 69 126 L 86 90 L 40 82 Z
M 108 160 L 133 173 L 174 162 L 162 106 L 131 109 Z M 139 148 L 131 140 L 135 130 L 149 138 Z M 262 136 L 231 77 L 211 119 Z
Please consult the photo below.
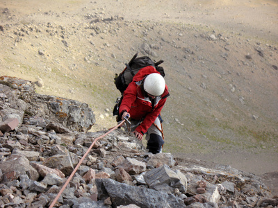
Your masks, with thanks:
M 88 153 L 90 152 L 91 148 L 94 146 L 94 144 L 96 143 L 97 140 L 101 139 L 102 137 L 105 137 L 106 135 L 108 135 L 109 133 L 113 132 L 113 130 L 115 130 L 116 128 L 118 128 L 120 125 L 122 125 L 124 123 L 125 120 L 121 121 L 118 125 L 116 125 L 114 128 L 112 128 L 111 130 L 109 130 L 108 132 L 106 132 L 104 135 L 97 137 L 97 139 L 95 139 L 90 148 L 88 148 L 87 152 L 85 153 L 85 155 L 83 155 L 83 157 L 81 158 L 81 160 L 79 161 L 79 164 L 76 165 L 76 167 L 74 168 L 74 171 L 72 171 L 72 174 L 70 175 L 70 177 L 67 179 L 67 181 L 65 182 L 64 186 L 62 187 L 62 189 L 60 189 L 59 193 L 57 194 L 56 198 L 54 199 L 54 201 L 51 203 L 49 208 L 54 207 L 55 203 L 57 202 L 58 198 L 60 197 L 60 195 L 63 193 L 63 191 L 65 190 L 65 187 L 67 187 L 67 184 L 69 184 L 70 180 L 72 180 L 72 177 L 74 176 L 74 174 L 76 173 L 77 169 L 79 168 L 79 166 L 82 164 L 83 159 L 85 159 L 85 157 L 88 155 Z

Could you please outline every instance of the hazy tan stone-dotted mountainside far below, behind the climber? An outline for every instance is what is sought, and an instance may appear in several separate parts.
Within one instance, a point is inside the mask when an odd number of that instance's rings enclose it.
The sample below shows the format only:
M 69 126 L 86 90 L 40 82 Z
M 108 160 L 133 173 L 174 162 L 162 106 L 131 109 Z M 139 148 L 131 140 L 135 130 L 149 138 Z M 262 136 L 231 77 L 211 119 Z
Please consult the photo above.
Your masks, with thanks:
M 278 170 L 277 1 L 0 1 L 0 75 L 88 103 L 113 127 L 115 73 L 164 60 L 164 151 Z

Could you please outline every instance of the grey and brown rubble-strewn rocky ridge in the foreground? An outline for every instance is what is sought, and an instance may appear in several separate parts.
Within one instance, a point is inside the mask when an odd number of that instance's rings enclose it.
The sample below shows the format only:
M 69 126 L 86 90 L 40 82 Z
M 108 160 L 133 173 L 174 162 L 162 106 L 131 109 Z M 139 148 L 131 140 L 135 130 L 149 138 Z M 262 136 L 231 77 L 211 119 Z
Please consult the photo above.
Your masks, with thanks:
M 35 93 L 28 80 L 0 77 L 0 206 L 49 207 L 106 131 L 78 101 Z M 219 164 L 152 155 L 118 129 L 99 139 L 54 207 L 275 207 L 260 177 Z M 183 166 L 181 164 L 186 164 Z

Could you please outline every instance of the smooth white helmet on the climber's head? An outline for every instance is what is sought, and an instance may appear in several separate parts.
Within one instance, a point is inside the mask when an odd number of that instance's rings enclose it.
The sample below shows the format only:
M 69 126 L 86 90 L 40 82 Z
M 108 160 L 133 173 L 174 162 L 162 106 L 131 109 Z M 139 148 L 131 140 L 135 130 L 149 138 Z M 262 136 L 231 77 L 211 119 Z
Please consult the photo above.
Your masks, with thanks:
M 152 96 L 161 96 L 165 90 L 165 80 L 159 73 L 151 73 L 145 78 L 145 92 Z

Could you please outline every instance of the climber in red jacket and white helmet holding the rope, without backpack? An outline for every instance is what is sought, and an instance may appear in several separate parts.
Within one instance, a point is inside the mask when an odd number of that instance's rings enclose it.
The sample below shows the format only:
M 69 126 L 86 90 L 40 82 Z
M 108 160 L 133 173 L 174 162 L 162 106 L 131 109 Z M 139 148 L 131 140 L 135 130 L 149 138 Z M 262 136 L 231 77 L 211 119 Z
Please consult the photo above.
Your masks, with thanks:
M 163 76 L 152 66 L 140 69 L 124 91 L 120 118 L 129 118 L 133 127 L 131 132 L 138 140 L 142 141 L 147 133 L 150 153 L 161 153 L 164 144 L 160 113 L 168 96 Z

